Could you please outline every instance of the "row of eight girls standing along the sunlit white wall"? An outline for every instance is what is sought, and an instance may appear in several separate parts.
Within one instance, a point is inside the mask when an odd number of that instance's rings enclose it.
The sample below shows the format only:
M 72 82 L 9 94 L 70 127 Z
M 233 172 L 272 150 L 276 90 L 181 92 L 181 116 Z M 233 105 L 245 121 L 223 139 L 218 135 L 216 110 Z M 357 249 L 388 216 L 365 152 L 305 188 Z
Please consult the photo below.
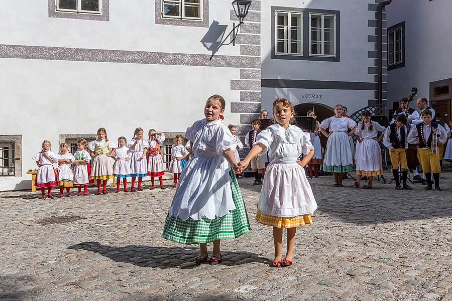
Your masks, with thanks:
M 165 164 L 163 162 L 160 145 L 165 140 L 165 135 L 161 131 L 150 129 L 149 139 L 143 138 L 143 129 L 135 129 L 134 137 L 127 144 L 124 136 L 118 138 L 118 144 L 108 140 L 105 128 L 97 130 L 97 139 L 87 143 L 85 139 L 77 140 L 77 151 L 72 155 L 66 143 L 60 144 L 60 152 L 55 154 L 51 150 L 51 143 L 44 140 L 41 152 L 37 153 L 33 160 L 38 164 L 36 175 L 36 186 L 41 188 L 42 197 L 52 196 L 52 187 L 59 186 L 59 197 L 70 195 L 70 188 L 78 187 L 78 196 L 88 194 L 88 184 L 97 184 L 97 195 L 107 194 L 106 184 L 113 177 L 117 180 L 116 192 L 120 192 L 121 182 L 124 191 L 127 188 L 127 179 L 132 178 L 132 192 L 142 191 L 143 177 L 151 177 L 150 189 L 155 188 L 154 178 L 158 178 L 160 188 L 166 189 L 163 185 L 163 175 L 165 174 Z M 188 150 L 182 145 L 182 135 L 177 135 L 171 148 L 171 163 L 169 172 L 174 174 L 174 185 L 185 166 L 184 160 L 188 155 Z M 112 164 L 110 158 L 115 163 Z M 55 170 L 53 164 L 58 164 Z M 138 187 L 135 183 L 138 178 Z M 81 189 L 83 187 L 83 194 Z

